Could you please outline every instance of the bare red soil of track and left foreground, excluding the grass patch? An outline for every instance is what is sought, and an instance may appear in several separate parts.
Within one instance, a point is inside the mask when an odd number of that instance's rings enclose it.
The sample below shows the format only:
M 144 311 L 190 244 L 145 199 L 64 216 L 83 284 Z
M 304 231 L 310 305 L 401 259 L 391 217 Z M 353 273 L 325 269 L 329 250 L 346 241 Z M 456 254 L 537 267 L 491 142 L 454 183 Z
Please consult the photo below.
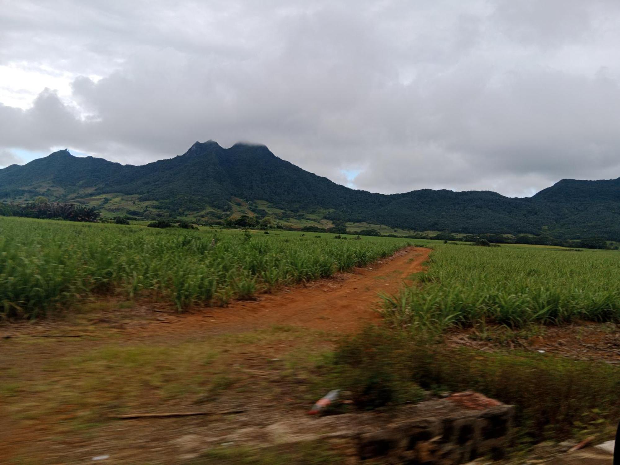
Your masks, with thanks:
M 185 341 L 208 339 L 211 335 L 235 334 L 273 325 L 286 325 L 321 330 L 329 334 L 354 332 L 367 322 L 380 318 L 376 310 L 381 303 L 380 293 L 396 293 L 403 281 L 412 273 L 423 270 L 422 263 L 428 259 L 430 250 L 409 247 L 387 259 L 379 260 L 366 268 L 355 268 L 352 272 L 338 273 L 332 278 L 312 281 L 306 285 L 280 288 L 272 294 L 262 294 L 256 301 L 233 301 L 226 308 L 196 307 L 178 314 L 172 304 L 138 301 L 131 309 L 112 306 L 102 312 L 87 315 L 87 323 L 73 324 L 71 319 L 51 319 L 26 323 L 8 324 L 0 328 L 0 335 L 11 335 L 11 339 L 0 340 L 3 356 L 0 371 L 11 370 L 22 361 L 28 361 L 29 369 L 24 372 L 22 384 L 33 380 L 47 379 L 61 382 L 60 373 L 45 371 L 50 361 L 79 354 L 99 347 L 126 343 L 139 345 L 166 345 Z M 82 334 L 77 338 L 46 338 L 46 343 L 14 344 L 12 337 L 31 339 L 29 335 Z M 110 337 L 112 335 L 112 337 Z M 32 338 L 40 339 L 40 338 Z M 115 341 L 115 342 L 112 342 Z M 299 342 L 303 344 L 303 342 Z M 84 459 L 112 450 L 115 457 L 109 463 L 179 463 L 179 447 L 174 438 L 192 435 L 196 432 L 215 434 L 235 431 L 243 425 L 262 424 L 270 418 L 285 415 L 303 415 L 307 409 L 301 403 L 299 389 L 295 385 L 303 380 L 285 381 L 280 378 L 281 370 L 274 371 L 273 362 L 283 353 L 294 348 L 278 343 L 267 345 L 257 343 L 247 352 L 238 353 L 232 368 L 242 378 L 242 385 L 252 383 L 268 384 L 273 390 L 273 399 L 264 396 L 247 396 L 231 391 L 219 399 L 222 405 L 245 405 L 245 415 L 236 415 L 234 421 L 228 418 L 189 417 L 151 420 L 132 420 L 131 424 L 107 422 L 97 435 L 84 441 L 76 434 L 63 433 L 63 439 L 56 439 L 63 428 L 69 428 L 71 418 L 76 417 L 78 407 L 67 405 L 66 412 L 55 412 L 37 420 L 17 420 L 0 415 L 0 457 L 45 459 L 46 463 L 82 463 Z M 87 379 L 85 374 L 84 379 Z M 146 394 L 146 392 L 145 392 Z M 257 394 L 257 392 L 255 392 Z M 285 395 L 283 402 L 282 396 Z M 239 397 L 241 396 L 241 397 Z M 184 411 L 196 409 L 195 399 L 180 399 L 157 409 Z M 29 399 L 32 405 L 40 405 L 38 395 Z M 273 403 L 275 402 L 275 403 Z M 144 404 L 144 405 L 142 405 Z M 153 399 L 145 396 L 136 408 L 153 408 Z M 2 409 L 0 408 L 0 411 Z M 59 416 L 60 415 L 60 416 Z M 60 429 L 59 429 L 60 428 Z M 169 435 L 169 432 L 174 432 Z M 162 444 L 162 437 L 168 437 Z M 170 445 L 168 444 L 169 441 Z M 50 449 L 51 448 L 51 449 Z M 169 455 L 172 454 L 172 455 Z M 156 459 L 157 458 L 157 459 Z M 2 459 L 0 459 L 2 462 Z M 106 461 L 108 463 L 108 461 Z

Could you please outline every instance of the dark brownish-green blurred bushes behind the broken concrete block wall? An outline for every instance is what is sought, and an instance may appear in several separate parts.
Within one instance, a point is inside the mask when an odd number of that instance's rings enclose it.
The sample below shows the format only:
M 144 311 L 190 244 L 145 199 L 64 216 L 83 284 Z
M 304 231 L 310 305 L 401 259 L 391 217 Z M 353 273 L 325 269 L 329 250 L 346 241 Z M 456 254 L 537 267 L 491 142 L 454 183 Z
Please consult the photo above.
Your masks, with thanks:
M 371 327 L 340 343 L 331 368 L 344 374 L 342 388 L 369 407 L 417 401 L 415 386 L 473 389 L 516 405 L 521 441 L 568 436 L 594 411 L 600 423 L 620 416 L 620 371 L 606 363 L 454 349 L 423 333 Z

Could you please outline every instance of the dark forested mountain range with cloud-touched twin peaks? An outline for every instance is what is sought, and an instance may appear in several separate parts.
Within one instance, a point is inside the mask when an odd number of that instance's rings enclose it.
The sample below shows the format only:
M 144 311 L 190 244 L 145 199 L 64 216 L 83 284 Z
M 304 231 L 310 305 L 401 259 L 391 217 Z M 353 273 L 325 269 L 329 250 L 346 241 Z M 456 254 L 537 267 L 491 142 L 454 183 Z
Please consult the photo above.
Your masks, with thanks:
M 142 166 L 55 152 L 0 169 L 0 200 L 101 202 L 120 195 L 134 209 L 174 215 L 228 212 L 249 202 L 283 215 L 386 224 L 415 231 L 549 232 L 554 237 L 602 236 L 620 241 L 620 178 L 564 179 L 531 198 L 495 192 L 414 190 L 384 195 L 355 190 L 278 158 L 264 145 L 195 143 L 183 155 Z M 104 197 L 102 197 L 104 196 Z M 128 207 L 127 207 L 128 208 Z M 264 211 L 263 211 L 264 214 Z

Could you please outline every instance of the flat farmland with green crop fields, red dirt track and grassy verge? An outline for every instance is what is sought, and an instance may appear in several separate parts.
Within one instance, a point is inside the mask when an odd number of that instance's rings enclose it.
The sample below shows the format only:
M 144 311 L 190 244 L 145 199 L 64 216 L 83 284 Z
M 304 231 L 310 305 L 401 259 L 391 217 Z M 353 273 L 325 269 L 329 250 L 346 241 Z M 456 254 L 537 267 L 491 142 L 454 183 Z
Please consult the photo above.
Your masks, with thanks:
M 254 456 L 183 441 L 301 418 L 334 388 L 352 413 L 476 389 L 516 405 L 525 450 L 606 440 L 620 414 L 613 250 L 26 218 L 0 234 L 0 455 L 17 463 Z M 247 414 L 113 420 L 219 408 Z M 312 463 L 335 463 L 322 446 Z

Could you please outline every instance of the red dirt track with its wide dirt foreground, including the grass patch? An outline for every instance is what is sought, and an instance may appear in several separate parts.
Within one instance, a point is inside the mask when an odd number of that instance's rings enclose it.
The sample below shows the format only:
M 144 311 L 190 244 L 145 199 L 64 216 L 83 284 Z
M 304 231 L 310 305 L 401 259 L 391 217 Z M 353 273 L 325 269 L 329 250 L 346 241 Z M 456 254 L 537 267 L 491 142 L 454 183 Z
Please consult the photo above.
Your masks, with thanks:
M 178 314 L 166 303 L 142 300 L 123 309 L 108 300 L 75 317 L 0 326 L 0 337 L 8 336 L 0 339 L 0 463 L 85 463 L 107 455 L 102 463 L 184 463 L 218 445 L 216 438 L 303 417 L 316 397 L 316 356 L 339 335 L 378 320 L 379 293 L 396 293 L 423 270 L 429 252 L 409 247 L 369 267 L 227 308 Z M 215 362 L 211 353 L 219 354 Z M 179 394 L 166 391 L 170 386 L 191 389 Z M 239 405 L 245 412 L 238 415 L 108 418 Z

